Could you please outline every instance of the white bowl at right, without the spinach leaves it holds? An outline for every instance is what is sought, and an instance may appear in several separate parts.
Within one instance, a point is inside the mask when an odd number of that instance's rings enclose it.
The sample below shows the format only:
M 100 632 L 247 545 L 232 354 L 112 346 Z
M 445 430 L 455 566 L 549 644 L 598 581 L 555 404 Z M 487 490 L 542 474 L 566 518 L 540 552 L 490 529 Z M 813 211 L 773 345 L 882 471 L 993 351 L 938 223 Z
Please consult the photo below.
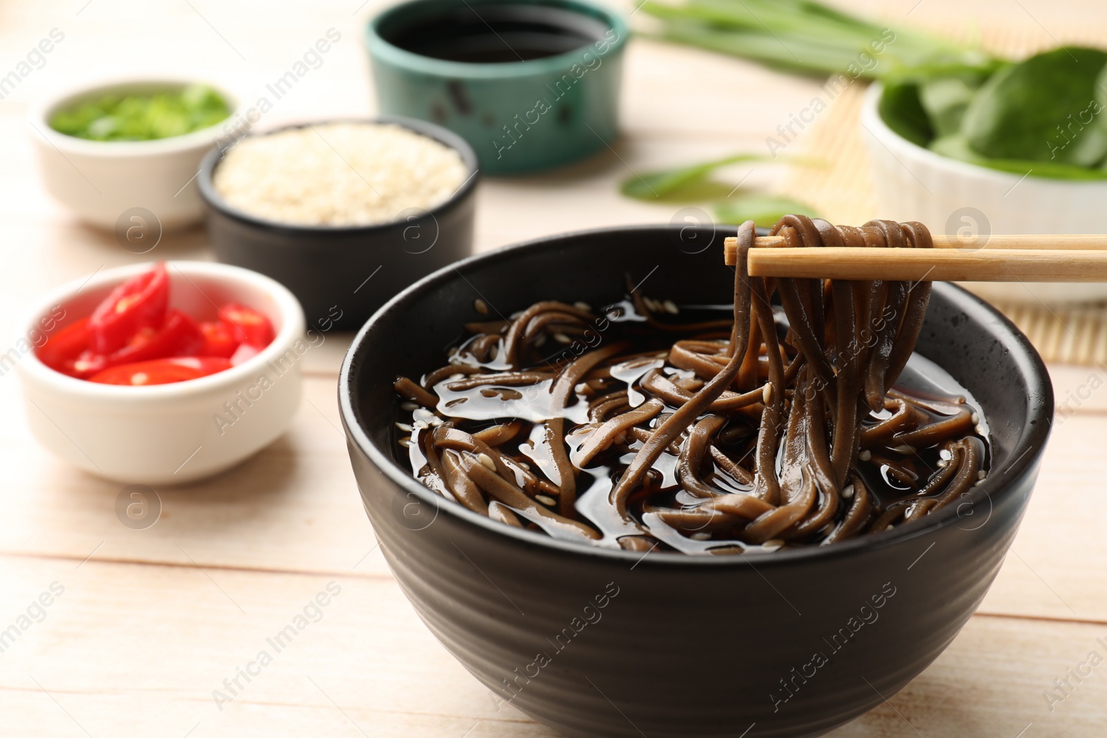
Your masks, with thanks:
M 878 112 L 883 87 L 865 100 L 861 126 L 881 218 L 918 220 L 935 233 L 1107 233 L 1107 180 L 1023 177 L 940 156 L 894 133 Z M 1107 284 L 970 282 L 989 300 L 1080 302 Z

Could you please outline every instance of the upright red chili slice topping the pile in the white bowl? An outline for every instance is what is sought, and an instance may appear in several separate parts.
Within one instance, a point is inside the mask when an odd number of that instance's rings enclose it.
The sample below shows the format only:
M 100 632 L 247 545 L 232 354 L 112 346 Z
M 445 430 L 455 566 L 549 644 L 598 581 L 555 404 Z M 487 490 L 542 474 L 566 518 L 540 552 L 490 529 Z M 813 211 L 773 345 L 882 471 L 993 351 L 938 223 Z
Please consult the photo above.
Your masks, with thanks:
M 118 351 L 146 328 L 161 328 L 169 304 L 169 276 L 165 263 L 157 262 L 148 272 L 120 284 L 89 318 L 91 349 L 107 355 Z

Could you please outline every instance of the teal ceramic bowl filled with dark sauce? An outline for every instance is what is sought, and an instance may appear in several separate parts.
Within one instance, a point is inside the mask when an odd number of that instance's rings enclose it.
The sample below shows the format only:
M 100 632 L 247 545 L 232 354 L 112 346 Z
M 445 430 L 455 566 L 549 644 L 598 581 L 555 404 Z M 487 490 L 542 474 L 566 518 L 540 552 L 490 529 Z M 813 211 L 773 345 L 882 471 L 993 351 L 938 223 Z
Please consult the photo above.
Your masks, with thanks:
M 449 128 L 497 175 L 614 139 L 629 33 L 581 0 L 411 0 L 372 19 L 365 43 L 380 112 Z

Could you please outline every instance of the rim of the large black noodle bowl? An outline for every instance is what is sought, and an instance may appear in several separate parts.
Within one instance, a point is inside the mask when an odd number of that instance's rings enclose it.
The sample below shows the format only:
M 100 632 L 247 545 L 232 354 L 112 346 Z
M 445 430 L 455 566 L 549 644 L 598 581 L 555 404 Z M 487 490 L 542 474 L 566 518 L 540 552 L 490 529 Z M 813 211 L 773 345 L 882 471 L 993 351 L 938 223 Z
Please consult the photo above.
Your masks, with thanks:
M 852 538 L 834 545 L 815 545 L 782 550 L 775 551 L 768 555 L 689 555 L 686 553 L 668 552 L 659 552 L 650 555 L 649 552 L 642 554 L 634 551 L 603 549 L 570 541 L 561 541 L 545 533 L 505 526 L 504 523 L 492 520 L 486 516 L 473 512 L 462 505 L 445 500 L 424 487 L 417 479 L 412 477 L 408 469 L 402 468 L 390 456 L 386 456 L 377 450 L 377 448 L 370 440 L 369 435 L 361 427 L 361 414 L 354 407 L 352 402 L 351 376 L 355 360 L 360 353 L 365 351 L 364 343 L 369 332 L 373 329 L 376 321 L 381 320 L 385 313 L 401 308 L 404 302 L 414 299 L 416 294 L 423 292 L 424 290 L 434 289 L 438 283 L 452 280 L 456 274 L 461 274 L 464 279 L 465 270 L 474 266 L 483 266 L 486 262 L 510 260 L 519 252 L 551 248 L 569 238 L 613 233 L 624 235 L 628 232 L 645 235 L 655 233 L 658 230 L 664 230 L 668 228 L 668 225 L 662 224 L 613 226 L 608 228 L 570 231 L 555 236 L 545 236 L 529 241 L 524 241 L 521 243 L 501 247 L 493 251 L 474 254 L 447 267 L 443 267 L 442 269 L 427 274 L 407 289 L 403 290 L 384 303 L 375 313 L 373 313 L 372 318 L 370 318 L 361 330 L 358 331 L 353 343 L 350 344 L 350 350 L 342 360 L 342 368 L 339 374 L 338 399 L 339 412 L 342 416 L 342 426 L 345 428 L 348 440 L 352 446 L 355 446 L 358 451 L 364 455 L 377 468 L 377 470 L 381 471 L 382 475 L 397 485 L 407 495 L 413 493 L 420 501 L 434 506 L 436 510 L 446 510 L 447 514 L 452 514 L 462 521 L 476 526 L 477 528 L 482 528 L 490 534 L 500 536 L 505 539 L 511 539 L 518 544 L 547 549 L 567 557 L 599 558 L 607 559 L 614 563 L 637 561 L 637 563 L 634 563 L 635 567 L 638 563 L 651 567 L 754 567 L 756 564 L 755 568 L 761 569 L 763 567 L 784 567 L 793 563 L 801 563 L 811 559 L 831 561 L 838 558 L 855 555 L 870 549 L 879 550 L 907 543 L 954 524 L 960 519 L 958 510 L 961 506 L 948 506 L 934 514 L 925 516 L 920 521 L 903 526 L 902 528 L 898 527 L 879 533 L 870 533 Z M 1008 460 L 999 468 L 991 469 L 989 471 L 989 476 L 983 480 L 983 482 L 972 489 L 970 492 L 971 497 L 965 503 L 976 505 L 985 498 L 991 502 L 993 499 L 993 492 L 996 496 L 1010 492 L 1010 490 L 1015 486 L 1013 482 L 1017 480 L 1032 464 L 1036 464 L 1042 450 L 1045 448 L 1045 443 L 1052 428 L 1051 417 L 1053 415 L 1053 384 L 1049 381 L 1049 374 L 1046 371 L 1045 363 L 1042 361 L 1042 357 L 1038 355 L 1034 346 L 1031 345 L 1030 340 L 1022 333 L 1022 331 L 1018 330 L 1018 328 L 1015 326 L 1014 323 L 1003 315 L 1003 313 L 959 285 L 951 284 L 949 282 L 935 283 L 934 289 L 935 291 L 941 292 L 943 297 L 952 300 L 954 303 L 960 303 L 965 308 L 974 310 L 983 309 L 997 319 L 999 323 L 995 326 L 997 337 L 1001 340 L 1004 337 L 1010 339 L 1010 343 L 1004 343 L 1004 345 L 1010 349 L 1006 356 L 1008 356 L 1011 361 L 1015 362 L 1020 366 L 1021 372 L 1031 380 L 1032 386 L 1027 386 L 1026 388 L 1027 396 L 1042 398 L 1042 402 L 1037 403 L 1036 406 L 1031 407 L 1031 413 L 1026 423 L 1026 425 L 1030 426 L 1030 430 L 1024 433 L 1018 443 L 1016 443 L 1014 448 L 1011 449 L 1011 458 L 1013 460 Z M 1006 336 L 1003 335 L 1004 330 L 1006 331 Z M 1033 383 L 1035 382 L 1038 386 L 1033 386 Z M 1033 449 L 1037 449 L 1038 453 L 1031 454 L 1030 451 Z M 996 482 L 991 481 L 1001 477 L 1004 478 L 1004 481 L 1006 482 L 1005 485 L 997 485 Z M 993 488 L 995 489 L 993 490 Z M 649 563 L 645 559 L 649 559 Z M 756 562 L 752 561 L 753 559 L 756 559 Z

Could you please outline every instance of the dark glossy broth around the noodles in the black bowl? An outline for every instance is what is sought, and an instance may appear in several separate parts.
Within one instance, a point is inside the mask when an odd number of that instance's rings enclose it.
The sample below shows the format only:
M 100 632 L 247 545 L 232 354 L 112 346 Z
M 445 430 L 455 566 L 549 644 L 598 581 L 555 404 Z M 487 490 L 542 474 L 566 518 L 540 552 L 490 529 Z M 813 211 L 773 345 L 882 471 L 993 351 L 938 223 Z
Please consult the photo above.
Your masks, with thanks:
M 575 306 L 588 308 L 583 303 L 576 303 Z M 658 310 L 651 310 L 653 306 Z M 479 316 L 480 310 L 483 304 L 477 301 L 474 316 Z M 587 461 L 578 466 L 590 450 L 586 445 L 594 432 L 596 424 L 589 422 L 590 410 L 593 417 L 603 413 L 601 406 L 604 398 L 608 403 L 625 405 L 624 409 L 642 407 L 652 398 L 649 389 L 642 387 L 642 380 L 655 370 L 677 381 L 694 377 L 694 372 L 673 366 L 666 361 L 674 336 L 671 331 L 689 325 L 692 326 L 690 330 L 680 330 L 676 335 L 682 339 L 712 340 L 712 336 L 717 339 L 725 333 L 722 329 L 732 322 L 728 316 L 731 310 L 731 305 L 676 305 L 669 300 L 646 297 L 635 300 L 633 295 L 625 294 L 621 301 L 596 311 L 596 316 L 590 323 L 593 331 L 602 326 L 603 343 L 625 343 L 629 347 L 614 355 L 603 367 L 591 373 L 597 376 L 578 384 L 575 387 L 573 402 L 561 409 L 551 408 L 549 404 L 552 378 L 538 375 L 556 375 L 562 371 L 571 362 L 570 357 L 581 353 L 582 337 L 566 341 L 568 336 L 561 334 L 560 340 L 549 337 L 542 342 L 537 361 L 520 373 L 535 380 L 531 384 L 520 384 L 511 378 L 506 383 L 490 382 L 458 387 L 458 383 L 466 378 L 470 381 L 469 384 L 474 384 L 484 374 L 500 375 L 509 368 L 498 356 L 504 345 L 501 340 L 495 342 L 495 349 L 483 354 L 485 361 L 472 353 L 474 345 L 478 344 L 483 336 L 499 335 L 498 333 L 470 335 L 448 351 L 449 364 L 446 367 L 452 366 L 457 370 L 456 372 L 449 373 L 443 367 L 439 372 L 442 378 L 432 374 L 421 377 L 422 382 L 427 377 L 432 381 L 437 380 L 428 387 L 438 397 L 434 410 L 411 401 L 402 404 L 393 426 L 397 455 L 403 457 L 403 461 L 416 472 L 416 478 L 427 487 L 456 501 L 448 485 L 442 479 L 434 478 L 428 468 L 425 444 L 433 436 L 434 429 L 442 426 L 444 418 L 448 418 L 446 423 L 475 437 L 494 437 L 498 441 L 501 434 L 510 433 L 510 437 L 497 443 L 495 449 L 504 456 L 507 466 L 516 475 L 517 486 L 520 489 L 527 487 L 526 472 L 537 478 L 532 499 L 538 505 L 556 511 L 559 507 L 559 492 L 558 486 L 551 482 L 557 479 L 557 471 L 549 446 L 545 443 L 544 422 L 560 417 L 566 423 L 568 456 L 577 471 L 578 497 L 573 503 L 572 514 L 567 517 L 590 526 L 599 531 L 601 537 L 594 540 L 582 539 L 577 533 L 567 533 L 558 527 L 549 526 L 541 514 L 507 506 L 521 527 L 545 531 L 556 538 L 589 542 L 606 548 L 620 548 L 620 539 L 641 536 L 642 528 L 645 528 L 660 550 L 683 553 L 769 552 L 788 545 L 803 544 L 800 541 L 784 539 L 752 543 L 741 540 L 739 537 L 730 536 L 726 530 L 718 530 L 710 521 L 693 521 L 691 524 L 680 527 L 669 524 L 659 510 L 694 511 L 703 503 L 702 498 L 690 495 L 681 485 L 679 468 L 682 446 L 680 445 L 661 454 L 651 465 L 648 475 L 652 484 L 631 496 L 628 511 L 632 524 L 621 520 L 614 514 L 609 503 L 609 496 L 618 477 L 643 446 L 641 430 L 632 428 L 630 434 L 623 434 L 619 443 L 613 443 L 589 456 Z M 591 309 L 588 308 L 588 311 Z M 668 331 L 651 325 L 651 322 L 661 321 L 664 321 Z M 778 305 L 774 310 L 774 322 L 779 340 L 784 341 L 788 335 L 788 321 Z M 703 332 L 704 326 L 718 330 Z M 488 328 L 495 325 L 472 322 L 467 324 L 467 332 L 473 333 Z M 551 333 L 552 335 L 557 335 L 557 332 Z M 764 363 L 762 361 L 762 364 Z M 758 375 L 762 378 L 765 373 L 764 366 L 759 367 Z M 959 413 L 968 414 L 972 424 L 969 435 L 979 441 L 982 453 L 977 474 L 983 478 L 980 472 L 986 469 L 986 420 L 980 413 L 979 404 L 964 387 L 933 362 L 912 354 L 891 392 L 909 398 L 908 402 L 912 403 L 920 415 L 918 424 L 920 426 L 948 420 Z M 625 403 L 622 403 L 624 397 Z M 676 410 L 675 406 L 665 403 L 663 398 L 660 403 L 662 409 L 648 423 L 642 424 L 643 428 L 655 427 L 661 417 Z M 713 443 L 714 449 L 717 449 L 723 457 L 734 459 L 738 464 L 749 460 L 757 438 L 759 409 L 757 405 L 751 407 L 752 409 L 746 413 L 731 415 Z M 889 410 L 871 413 L 863 425 L 876 427 L 891 415 Z M 509 430 L 501 430 L 505 428 Z M 686 444 L 685 437 L 682 445 Z M 879 530 L 892 528 L 898 522 L 897 511 L 917 500 L 920 488 L 938 477 L 940 470 L 946 468 L 952 460 L 952 454 L 938 443 L 910 449 L 903 448 L 902 444 L 884 445 L 877 449 L 876 455 L 872 449 L 868 450 L 868 455 L 865 455 L 863 450 L 859 453 L 856 468 L 873 497 L 870 528 L 879 523 Z M 476 460 L 480 461 L 479 453 Z M 706 471 L 704 476 L 711 477 L 713 488 L 721 493 L 745 493 L 752 489 L 748 480 L 735 478 L 718 460 L 706 460 L 701 465 L 701 470 Z M 847 488 L 838 493 L 844 499 L 849 499 L 852 490 Z M 959 496 L 964 493 L 965 491 L 961 491 Z M 819 496 L 824 495 L 826 491 L 819 490 Z M 516 523 L 511 521 L 508 524 Z

